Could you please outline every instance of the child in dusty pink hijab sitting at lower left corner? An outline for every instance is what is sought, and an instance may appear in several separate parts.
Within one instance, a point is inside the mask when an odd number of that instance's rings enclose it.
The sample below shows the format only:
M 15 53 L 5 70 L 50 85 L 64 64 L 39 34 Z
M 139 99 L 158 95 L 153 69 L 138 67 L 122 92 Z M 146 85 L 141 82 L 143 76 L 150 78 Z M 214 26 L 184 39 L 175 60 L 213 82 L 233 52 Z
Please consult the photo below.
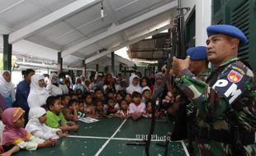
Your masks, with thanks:
M 5 125 L 2 132 L 2 145 L 17 145 L 21 149 L 36 150 L 55 146 L 57 140 L 41 140 L 27 133 L 24 126 L 24 113 L 22 108 L 7 108 L 2 113 L 2 122 Z

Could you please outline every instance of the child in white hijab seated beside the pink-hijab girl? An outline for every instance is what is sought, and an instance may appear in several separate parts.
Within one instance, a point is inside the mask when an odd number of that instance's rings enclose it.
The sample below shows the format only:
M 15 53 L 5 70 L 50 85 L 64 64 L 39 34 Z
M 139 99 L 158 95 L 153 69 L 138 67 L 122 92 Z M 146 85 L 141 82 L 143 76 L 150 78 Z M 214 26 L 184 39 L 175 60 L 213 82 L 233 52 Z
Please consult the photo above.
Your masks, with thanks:
M 51 128 L 45 125 L 46 122 L 46 111 L 45 108 L 31 108 L 29 112 L 29 122 L 26 124 L 25 130 L 31 135 L 42 140 L 48 139 L 59 139 L 59 137 L 67 136 L 66 133 L 58 128 Z

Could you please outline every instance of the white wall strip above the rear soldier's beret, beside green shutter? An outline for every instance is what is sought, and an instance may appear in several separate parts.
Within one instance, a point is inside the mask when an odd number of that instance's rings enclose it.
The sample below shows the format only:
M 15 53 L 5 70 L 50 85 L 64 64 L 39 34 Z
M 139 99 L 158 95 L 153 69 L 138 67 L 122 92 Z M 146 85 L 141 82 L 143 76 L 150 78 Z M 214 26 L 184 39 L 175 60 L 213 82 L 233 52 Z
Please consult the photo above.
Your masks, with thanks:
M 182 0 L 182 7 L 190 7 L 191 10 L 185 16 L 187 16 L 195 7 L 196 10 L 196 46 L 206 45 L 207 26 L 211 25 L 211 0 Z

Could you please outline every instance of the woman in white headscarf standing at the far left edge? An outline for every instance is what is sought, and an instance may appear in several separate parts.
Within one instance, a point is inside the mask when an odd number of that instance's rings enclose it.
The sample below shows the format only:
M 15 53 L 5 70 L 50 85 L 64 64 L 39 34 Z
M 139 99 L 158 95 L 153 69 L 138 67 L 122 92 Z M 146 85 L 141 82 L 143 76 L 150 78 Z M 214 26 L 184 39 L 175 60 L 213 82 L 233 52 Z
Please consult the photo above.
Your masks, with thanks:
M 12 103 L 15 101 L 15 91 L 9 71 L 0 72 L 0 94 L 2 94 L 7 108 L 12 108 Z

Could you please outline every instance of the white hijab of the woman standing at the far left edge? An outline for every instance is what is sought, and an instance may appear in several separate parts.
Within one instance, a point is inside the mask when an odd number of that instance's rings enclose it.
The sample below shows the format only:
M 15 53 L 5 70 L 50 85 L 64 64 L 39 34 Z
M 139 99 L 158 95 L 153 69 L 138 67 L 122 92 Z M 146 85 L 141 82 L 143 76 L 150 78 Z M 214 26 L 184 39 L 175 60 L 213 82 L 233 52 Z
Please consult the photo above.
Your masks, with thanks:
M 4 77 L 2 76 L 4 72 L 9 71 L 0 72 L 0 94 L 2 94 L 3 98 L 7 98 L 11 94 L 13 102 L 15 100 L 14 85 L 12 84 L 12 80 L 10 82 L 7 82 L 7 80 L 4 79 Z

